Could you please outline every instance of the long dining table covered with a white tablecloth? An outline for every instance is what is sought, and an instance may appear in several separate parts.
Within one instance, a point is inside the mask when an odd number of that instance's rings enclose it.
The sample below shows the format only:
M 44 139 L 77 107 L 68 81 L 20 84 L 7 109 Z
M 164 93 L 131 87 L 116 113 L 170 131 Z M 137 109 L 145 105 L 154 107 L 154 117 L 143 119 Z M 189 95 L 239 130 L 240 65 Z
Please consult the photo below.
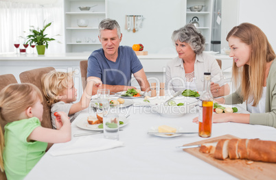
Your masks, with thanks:
M 240 113 L 249 113 L 239 105 Z M 161 125 L 181 128 L 185 132 L 198 132 L 198 124 L 192 120 L 198 116 L 193 107 L 183 116 L 170 117 L 152 111 L 148 105 L 133 104 L 121 108 L 121 116 L 126 116 L 128 123 L 119 131 L 119 142 L 123 146 L 104 151 L 73 153 L 54 156 L 58 147 L 66 143 L 54 144 L 34 166 L 25 179 L 237 179 L 233 175 L 191 155 L 177 146 L 207 140 L 198 133 L 179 136 L 158 136 L 148 134 L 151 129 Z M 85 116 L 89 109 L 82 110 Z M 129 116 L 128 116 L 129 115 Z M 93 132 L 81 128 L 78 120 L 71 123 L 71 141 L 79 141 L 87 136 L 73 136 L 78 133 Z M 242 123 L 213 123 L 211 138 L 230 134 L 238 138 L 260 138 L 276 141 L 276 129 L 263 125 Z M 88 135 L 93 142 L 104 140 L 103 133 Z

